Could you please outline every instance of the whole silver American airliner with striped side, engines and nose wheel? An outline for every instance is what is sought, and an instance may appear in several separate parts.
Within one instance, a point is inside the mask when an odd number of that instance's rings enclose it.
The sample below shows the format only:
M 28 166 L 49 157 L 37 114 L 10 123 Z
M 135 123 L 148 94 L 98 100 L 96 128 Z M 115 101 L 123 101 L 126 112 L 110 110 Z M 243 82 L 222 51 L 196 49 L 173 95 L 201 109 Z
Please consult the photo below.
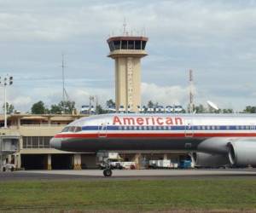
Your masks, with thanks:
M 104 114 L 73 121 L 50 145 L 81 153 L 182 150 L 201 166 L 256 166 L 255 128 L 255 114 Z

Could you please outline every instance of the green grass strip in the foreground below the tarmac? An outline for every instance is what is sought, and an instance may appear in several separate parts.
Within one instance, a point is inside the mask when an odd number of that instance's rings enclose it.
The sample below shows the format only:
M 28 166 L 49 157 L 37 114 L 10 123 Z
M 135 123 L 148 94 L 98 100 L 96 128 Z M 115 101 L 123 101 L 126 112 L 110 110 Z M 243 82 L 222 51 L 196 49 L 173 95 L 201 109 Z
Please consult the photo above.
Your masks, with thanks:
M 0 212 L 256 211 L 256 180 L 8 181 L 0 204 Z

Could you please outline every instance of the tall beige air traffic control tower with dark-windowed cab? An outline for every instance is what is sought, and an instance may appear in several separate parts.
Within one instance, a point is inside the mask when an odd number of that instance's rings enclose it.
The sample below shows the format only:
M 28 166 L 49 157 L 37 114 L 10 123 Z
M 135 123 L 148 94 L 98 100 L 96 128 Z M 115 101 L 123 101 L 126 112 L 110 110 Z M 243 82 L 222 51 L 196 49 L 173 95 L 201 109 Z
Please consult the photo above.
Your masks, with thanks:
M 148 37 L 109 37 L 108 57 L 115 61 L 115 105 L 116 110 L 137 112 L 141 107 L 141 58 Z

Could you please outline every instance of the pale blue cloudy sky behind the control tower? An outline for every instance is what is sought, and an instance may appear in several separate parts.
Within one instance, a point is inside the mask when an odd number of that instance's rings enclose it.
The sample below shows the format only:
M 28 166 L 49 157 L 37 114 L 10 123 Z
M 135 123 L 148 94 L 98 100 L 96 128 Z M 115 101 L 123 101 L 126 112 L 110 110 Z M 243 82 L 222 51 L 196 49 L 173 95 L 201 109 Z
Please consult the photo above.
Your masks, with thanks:
M 0 77 L 14 77 L 7 100 L 21 112 L 62 99 L 76 107 L 96 95 L 114 100 L 110 36 L 145 32 L 142 99 L 160 105 L 189 102 L 189 69 L 195 104 L 212 101 L 241 111 L 256 102 L 256 1 L 253 0 L 0 0 Z M 3 87 L 0 89 L 3 103 Z

